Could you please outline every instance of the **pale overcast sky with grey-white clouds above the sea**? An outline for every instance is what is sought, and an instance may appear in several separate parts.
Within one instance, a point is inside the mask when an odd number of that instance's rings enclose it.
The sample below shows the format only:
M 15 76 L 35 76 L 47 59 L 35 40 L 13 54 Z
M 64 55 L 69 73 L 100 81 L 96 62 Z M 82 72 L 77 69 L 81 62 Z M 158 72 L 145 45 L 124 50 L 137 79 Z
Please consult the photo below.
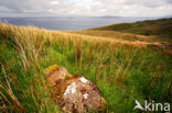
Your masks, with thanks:
M 0 16 L 172 15 L 172 0 L 0 0 Z

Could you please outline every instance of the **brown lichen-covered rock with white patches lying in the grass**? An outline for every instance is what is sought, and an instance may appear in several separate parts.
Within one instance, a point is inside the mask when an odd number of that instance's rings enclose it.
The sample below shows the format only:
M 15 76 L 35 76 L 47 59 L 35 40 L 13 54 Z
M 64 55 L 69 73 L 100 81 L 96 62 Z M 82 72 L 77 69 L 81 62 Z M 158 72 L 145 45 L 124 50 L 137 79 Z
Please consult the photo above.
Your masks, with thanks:
M 52 95 L 65 113 L 105 111 L 106 100 L 99 88 L 87 78 L 71 75 L 67 69 L 53 65 L 44 71 L 52 87 Z

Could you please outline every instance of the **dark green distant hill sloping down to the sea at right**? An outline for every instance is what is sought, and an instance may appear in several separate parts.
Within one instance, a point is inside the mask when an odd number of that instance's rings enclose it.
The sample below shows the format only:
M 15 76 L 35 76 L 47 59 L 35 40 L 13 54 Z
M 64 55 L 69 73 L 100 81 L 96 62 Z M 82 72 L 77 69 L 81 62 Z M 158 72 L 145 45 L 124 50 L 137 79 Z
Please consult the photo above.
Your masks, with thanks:
M 158 35 L 172 38 L 172 18 L 149 20 L 136 23 L 120 23 L 97 27 L 99 31 L 119 31 L 141 35 Z

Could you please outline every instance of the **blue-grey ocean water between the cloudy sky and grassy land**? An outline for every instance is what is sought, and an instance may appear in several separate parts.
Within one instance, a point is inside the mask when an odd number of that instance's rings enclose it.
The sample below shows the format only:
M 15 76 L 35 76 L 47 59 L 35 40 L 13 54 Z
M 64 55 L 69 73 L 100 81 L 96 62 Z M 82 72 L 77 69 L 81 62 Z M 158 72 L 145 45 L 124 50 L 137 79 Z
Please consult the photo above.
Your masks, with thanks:
M 148 20 L 146 18 L 0 18 L 7 22 L 23 26 L 37 26 L 47 30 L 87 30 L 116 23 L 130 23 Z

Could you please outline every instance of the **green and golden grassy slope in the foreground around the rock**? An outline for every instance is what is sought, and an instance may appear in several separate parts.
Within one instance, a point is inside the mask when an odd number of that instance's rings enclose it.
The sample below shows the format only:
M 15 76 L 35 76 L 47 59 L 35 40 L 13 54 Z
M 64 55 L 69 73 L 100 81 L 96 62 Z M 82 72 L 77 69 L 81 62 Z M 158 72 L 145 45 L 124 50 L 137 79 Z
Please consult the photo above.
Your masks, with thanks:
M 126 35 L 118 34 L 119 41 L 99 36 L 1 23 L 2 110 L 57 112 L 43 76 L 44 68 L 53 64 L 97 83 L 108 102 L 109 113 L 133 112 L 136 99 L 172 102 L 171 56 L 147 43 L 126 41 Z

